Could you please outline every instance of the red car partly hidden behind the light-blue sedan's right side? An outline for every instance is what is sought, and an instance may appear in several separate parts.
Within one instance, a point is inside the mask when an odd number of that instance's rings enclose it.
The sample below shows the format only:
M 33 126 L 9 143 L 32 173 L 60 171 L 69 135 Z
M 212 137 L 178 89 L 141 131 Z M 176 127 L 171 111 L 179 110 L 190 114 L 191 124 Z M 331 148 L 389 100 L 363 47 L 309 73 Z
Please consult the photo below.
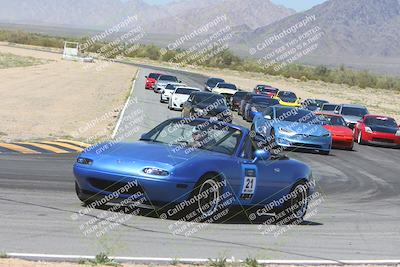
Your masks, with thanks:
M 331 132 L 333 148 L 353 150 L 353 131 L 347 127 L 342 116 L 323 112 L 318 112 L 316 115 L 324 123 L 323 127 Z

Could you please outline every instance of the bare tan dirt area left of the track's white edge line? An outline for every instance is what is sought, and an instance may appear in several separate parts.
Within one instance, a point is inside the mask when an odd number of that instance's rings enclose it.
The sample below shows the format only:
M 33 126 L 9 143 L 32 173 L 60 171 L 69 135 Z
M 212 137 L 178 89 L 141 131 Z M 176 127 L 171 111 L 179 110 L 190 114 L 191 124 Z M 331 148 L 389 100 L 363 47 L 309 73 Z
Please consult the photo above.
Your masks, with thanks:
M 0 141 L 109 138 L 137 68 L 65 61 L 58 53 L 0 44 L 0 53 L 36 58 L 29 67 L 0 69 Z

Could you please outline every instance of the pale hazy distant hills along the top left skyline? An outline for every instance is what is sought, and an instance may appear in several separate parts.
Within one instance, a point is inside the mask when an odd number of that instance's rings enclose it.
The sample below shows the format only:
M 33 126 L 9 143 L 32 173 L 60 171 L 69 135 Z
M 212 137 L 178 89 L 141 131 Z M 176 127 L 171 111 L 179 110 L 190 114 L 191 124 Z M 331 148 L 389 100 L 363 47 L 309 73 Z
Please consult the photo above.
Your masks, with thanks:
M 226 24 L 255 29 L 294 14 L 269 0 L 185 0 L 149 5 L 142 0 L 0 0 L 0 22 L 105 29 L 127 16 L 149 33 L 182 34 L 218 16 Z

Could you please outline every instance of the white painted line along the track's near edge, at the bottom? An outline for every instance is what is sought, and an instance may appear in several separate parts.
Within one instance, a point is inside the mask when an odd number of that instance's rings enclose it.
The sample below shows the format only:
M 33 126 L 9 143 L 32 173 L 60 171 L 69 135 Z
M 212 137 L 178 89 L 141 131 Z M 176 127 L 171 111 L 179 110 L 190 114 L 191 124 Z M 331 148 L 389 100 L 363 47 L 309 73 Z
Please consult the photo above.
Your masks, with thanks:
M 53 259 L 53 260 L 82 260 L 82 259 L 94 259 L 95 256 L 85 255 L 59 255 L 59 254 L 36 254 L 36 253 L 6 253 L 9 257 L 14 258 L 25 258 L 25 259 Z M 196 259 L 196 258 L 152 258 L 152 257 L 110 257 L 116 261 L 128 261 L 138 263 L 168 263 L 178 261 L 180 263 L 206 263 L 209 259 Z M 228 259 L 228 262 L 235 260 Z M 242 260 L 236 260 L 235 262 L 243 262 Z M 260 264 L 295 264 L 295 265 L 324 265 L 324 264 L 400 264 L 398 260 L 258 260 Z

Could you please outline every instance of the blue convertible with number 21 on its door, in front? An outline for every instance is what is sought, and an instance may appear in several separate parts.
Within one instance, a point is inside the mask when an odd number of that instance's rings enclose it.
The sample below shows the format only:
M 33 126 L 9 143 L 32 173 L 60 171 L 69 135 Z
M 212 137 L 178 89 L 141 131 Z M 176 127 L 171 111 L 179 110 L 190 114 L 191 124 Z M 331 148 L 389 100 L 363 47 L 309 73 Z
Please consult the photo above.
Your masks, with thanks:
M 190 205 L 210 215 L 222 203 L 275 203 L 274 212 L 294 207 L 289 213 L 297 220 L 313 191 L 307 165 L 258 150 L 247 128 L 206 119 L 170 119 L 137 142 L 92 146 L 78 156 L 74 174 L 87 205 L 144 196 L 143 204 L 168 216 Z

